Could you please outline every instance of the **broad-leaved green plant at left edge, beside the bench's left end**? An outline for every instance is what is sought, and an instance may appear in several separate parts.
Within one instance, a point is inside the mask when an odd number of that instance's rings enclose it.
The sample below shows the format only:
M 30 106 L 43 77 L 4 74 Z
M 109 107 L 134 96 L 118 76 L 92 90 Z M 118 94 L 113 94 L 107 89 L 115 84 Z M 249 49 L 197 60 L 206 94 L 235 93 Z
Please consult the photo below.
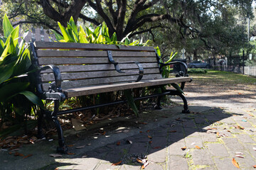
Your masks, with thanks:
M 28 44 L 18 37 L 19 26 L 13 28 L 9 18 L 3 20 L 4 37 L 0 38 L 0 118 L 4 122 L 21 123 L 42 101 L 33 94 L 28 74 L 31 57 Z M 25 33 L 26 36 L 27 33 Z M 21 39 L 20 42 L 18 40 Z

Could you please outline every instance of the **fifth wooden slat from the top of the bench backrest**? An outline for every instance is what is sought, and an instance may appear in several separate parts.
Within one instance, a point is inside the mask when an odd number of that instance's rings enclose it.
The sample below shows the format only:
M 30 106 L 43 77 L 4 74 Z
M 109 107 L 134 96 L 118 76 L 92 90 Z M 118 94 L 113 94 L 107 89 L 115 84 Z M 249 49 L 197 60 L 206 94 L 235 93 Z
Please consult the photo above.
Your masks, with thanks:
M 62 80 L 75 80 L 75 79 L 93 79 L 99 77 L 118 77 L 127 75 L 138 75 L 138 69 L 124 70 L 124 72 L 134 72 L 134 73 L 119 73 L 115 70 L 103 71 L 103 72 L 72 72 L 72 73 L 62 73 Z M 159 69 L 144 69 L 144 74 L 159 74 Z M 43 82 L 54 81 L 53 74 L 41 74 L 41 79 Z

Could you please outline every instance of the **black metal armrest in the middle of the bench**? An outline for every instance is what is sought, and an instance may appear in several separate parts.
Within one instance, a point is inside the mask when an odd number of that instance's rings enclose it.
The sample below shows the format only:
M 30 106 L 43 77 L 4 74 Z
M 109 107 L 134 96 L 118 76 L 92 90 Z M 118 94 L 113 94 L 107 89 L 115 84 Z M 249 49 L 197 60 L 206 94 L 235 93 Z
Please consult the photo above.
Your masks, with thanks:
M 144 74 L 144 69 L 142 67 L 142 64 L 140 64 L 139 62 L 134 62 L 134 61 L 129 61 L 129 62 L 114 62 L 114 59 L 113 59 L 113 56 L 112 56 L 112 52 L 111 51 L 107 51 L 107 57 L 109 58 L 110 62 L 112 64 L 114 64 L 114 69 L 116 69 L 117 72 L 119 73 L 139 73 L 139 77 L 137 78 L 137 81 L 140 81 L 143 77 L 143 74 Z M 124 72 L 122 71 L 120 68 L 119 68 L 119 65 L 118 64 L 132 64 L 132 63 L 135 63 L 137 64 L 137 67 L 139 68 L 139 72 Z

